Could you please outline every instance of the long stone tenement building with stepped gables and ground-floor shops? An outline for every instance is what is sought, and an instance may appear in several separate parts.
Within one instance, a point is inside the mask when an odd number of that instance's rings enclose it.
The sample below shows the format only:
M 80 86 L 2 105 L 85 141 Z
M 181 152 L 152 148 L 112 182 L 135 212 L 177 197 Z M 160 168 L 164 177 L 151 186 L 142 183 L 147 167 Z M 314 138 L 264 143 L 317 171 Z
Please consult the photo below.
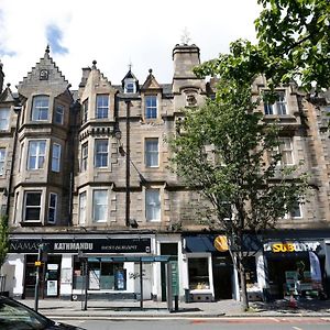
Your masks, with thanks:
M 152 69 L 140 84 L 130 68 L 112 85 L 94 62 L 72 90 L 46 48 L 16 92 L 3 88 L 0 67 L 0 201 L 11 227 L 2 272 L 10 295 L 34 296 L 40 272 L 42 297 L 77 299 L 87 289 L 109 299 L 165 300 L 172 277 L 182 299 L 239 298 L 229 254 L 215 244 L 221 232 L 200 223 L 204 201 L 167 168 L 165 138 L 176 133 L 183 108 L 213 92 L 193 73 L 196 45 L 176 45 L 173 63 L 170 84 Z M 255 95 L 265 89 L 262 78 L 253 85 Z M 251 299 L 265 289 L 282 296 L 298 262 L 309 277 L 311 253 L 329 290 L 329 99 L 307 99 L 293 85 L 278 95 L 258 110 L 279 121 L 283 162 L 304 161 L 315 189 L 278 230 L 248 246 L 255 250 Z M 302 287 L 298 278 L 293 284 Z

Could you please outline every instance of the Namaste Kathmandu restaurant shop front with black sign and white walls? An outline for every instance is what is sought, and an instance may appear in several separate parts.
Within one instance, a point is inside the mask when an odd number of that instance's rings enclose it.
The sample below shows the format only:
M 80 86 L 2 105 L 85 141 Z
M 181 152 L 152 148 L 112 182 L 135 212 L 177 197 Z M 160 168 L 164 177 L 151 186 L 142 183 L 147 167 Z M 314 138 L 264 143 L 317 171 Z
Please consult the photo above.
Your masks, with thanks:
M 85 294 L 86 285 L 89 295 L 100 298 L 117 294 L 133 298 L 141 294 L 142 276 L 143 298 L 150 299 L 155 294 L 154 263 L 163 262 L 152 253 L 153 240 L 151 237 L 11 238 L 8 264 L 14 270 L 13 296 L 34 297 L 38 272 L 41 298 L 76 299 Z

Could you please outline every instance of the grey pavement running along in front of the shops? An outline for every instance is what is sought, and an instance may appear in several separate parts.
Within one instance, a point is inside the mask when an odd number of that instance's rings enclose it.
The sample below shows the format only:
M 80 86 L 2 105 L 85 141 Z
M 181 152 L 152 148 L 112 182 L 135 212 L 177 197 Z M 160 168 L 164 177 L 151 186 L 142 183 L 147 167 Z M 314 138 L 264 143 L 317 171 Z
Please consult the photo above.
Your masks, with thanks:
M 24 305 L 34 308 L 33 299 L 21 299 Z M 217 318 L 217 317 L 329 317 L 330 300 L 299 299 L 295 304 L 280 299 L 271 302 L 251 301 L 250 310 L 242 311 L 240 301 L 228 299 L 211 302 L 178 302 L 177 310 L 168 310 L 167 302 L 144 300 L 141 309 L 139 300 L 88 300 L 61 299 L 38 300 L 38 311 L 51 318 Z M 174 308 L 174 306 L 173 306 Z

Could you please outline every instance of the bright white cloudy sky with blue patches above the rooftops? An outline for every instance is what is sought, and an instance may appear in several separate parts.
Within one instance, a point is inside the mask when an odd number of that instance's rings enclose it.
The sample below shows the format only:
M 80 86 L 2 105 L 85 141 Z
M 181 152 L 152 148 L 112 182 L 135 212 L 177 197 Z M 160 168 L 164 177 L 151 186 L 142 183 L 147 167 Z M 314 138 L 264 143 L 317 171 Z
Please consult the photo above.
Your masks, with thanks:
M 227 52 L 235 38 L 253 41 L 258 11 L 256 0 L 0 0 L 0 59 L 12 85 L 47 44 L 74 89 L 81 68 L 94 59 L 114 85 L 130 63 L 140 82 L 150 68 L 158 82 L 170 82 L 172 51 L 185 30 L 207 61 Z

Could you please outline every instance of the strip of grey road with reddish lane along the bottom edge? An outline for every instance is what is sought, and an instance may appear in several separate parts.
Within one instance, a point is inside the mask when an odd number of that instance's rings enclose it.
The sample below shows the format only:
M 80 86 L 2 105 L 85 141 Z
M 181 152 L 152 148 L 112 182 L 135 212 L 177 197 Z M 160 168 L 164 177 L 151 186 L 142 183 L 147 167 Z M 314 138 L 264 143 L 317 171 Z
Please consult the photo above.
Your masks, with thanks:
M 58 319 L 59 321 L 59 319 Z M 328 330 L 329 318 L 136 318 L 62 319 L 87 330 Z

